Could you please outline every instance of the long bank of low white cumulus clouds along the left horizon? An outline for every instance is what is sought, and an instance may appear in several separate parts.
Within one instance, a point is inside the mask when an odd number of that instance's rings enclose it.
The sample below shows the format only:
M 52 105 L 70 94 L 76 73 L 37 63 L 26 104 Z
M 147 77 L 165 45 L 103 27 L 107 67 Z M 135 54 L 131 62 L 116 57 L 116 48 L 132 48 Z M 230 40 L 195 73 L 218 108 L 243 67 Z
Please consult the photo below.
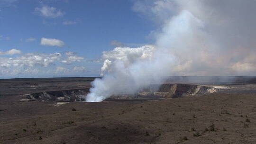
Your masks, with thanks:
M 6 52 L 0 52 L 0 55 L 12 55 L 14 56 L 0 56 L 0 77 L 8 76 L 53 76 L 53 75 L 68 75 L 83 72 L 90 72 L 84 66 L 80 66 L 81 63 L 76 63 L 76 66 L 63 64 L 62 61 L 66 60 L 66 63 L 81 62 L 83 57 L 77 56 L 74 52 L 67 52 L 65 54 L 52 53 L 27 53 L 20 54 L 19 51 L 9 50 Z M 67 57 L 68 56 L 68 57 Z M 70 68 L 72 67 L 72 68 Z

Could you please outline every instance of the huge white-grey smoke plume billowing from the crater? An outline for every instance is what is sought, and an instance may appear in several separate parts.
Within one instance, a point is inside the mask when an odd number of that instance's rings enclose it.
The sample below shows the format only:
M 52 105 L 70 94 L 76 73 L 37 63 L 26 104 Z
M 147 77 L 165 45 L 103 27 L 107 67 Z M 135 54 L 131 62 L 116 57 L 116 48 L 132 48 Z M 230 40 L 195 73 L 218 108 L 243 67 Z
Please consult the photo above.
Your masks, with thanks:
M 255 0 L 138 0 L 133 9 L 160 28 L 155 48 L 118 47 L 103 52 L 102 79 L 86 101 L 134 94 L 171 75 L 255 75 Z

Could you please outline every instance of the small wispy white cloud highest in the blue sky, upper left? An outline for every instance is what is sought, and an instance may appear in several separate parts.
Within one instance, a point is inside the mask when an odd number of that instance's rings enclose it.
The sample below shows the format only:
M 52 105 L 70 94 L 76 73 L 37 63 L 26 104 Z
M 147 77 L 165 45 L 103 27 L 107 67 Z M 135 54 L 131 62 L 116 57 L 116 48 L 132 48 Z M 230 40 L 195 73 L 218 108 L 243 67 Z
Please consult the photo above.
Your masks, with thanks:
M 45 18 L 58 18 L 64 15 L 64 12 L 62 12 L 59 9 L 56 9 L 55 7 L 48 7 L 43 6 L 42 8 L 36 8 L 36 12 L 39 12 L 41 16 Z

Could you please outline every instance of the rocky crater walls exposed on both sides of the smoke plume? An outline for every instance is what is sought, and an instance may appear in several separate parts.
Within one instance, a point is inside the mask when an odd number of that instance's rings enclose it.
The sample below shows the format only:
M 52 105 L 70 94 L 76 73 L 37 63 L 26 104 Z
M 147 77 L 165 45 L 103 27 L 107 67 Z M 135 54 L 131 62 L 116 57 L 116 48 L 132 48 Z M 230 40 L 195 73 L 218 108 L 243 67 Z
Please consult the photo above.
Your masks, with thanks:
M 218 91 L 218 89 L 210 86 L 190 85 L 190 84 L 152 84 L 146 89 L 140 90 L 135 95 L 113 96 L 111 99 L 170 99 L 180 98 L 192 95 L 202 95 Z M 84 101 L 90 89 L 75 90 L 57 90 L 44 91 L 38 93 L 27 94 L 29 100 L 39 101 Z

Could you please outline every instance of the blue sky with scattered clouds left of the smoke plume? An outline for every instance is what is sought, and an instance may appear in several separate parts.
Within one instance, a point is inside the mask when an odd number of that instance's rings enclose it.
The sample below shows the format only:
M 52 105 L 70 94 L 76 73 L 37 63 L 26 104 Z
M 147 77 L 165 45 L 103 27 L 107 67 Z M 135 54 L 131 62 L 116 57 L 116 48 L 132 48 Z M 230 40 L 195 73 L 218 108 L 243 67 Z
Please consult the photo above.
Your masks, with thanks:
M 0 0 L 0 78 L 99 76 L 103 51 L 152 43 L 154 25 L 132 6 L 131 0 Z

